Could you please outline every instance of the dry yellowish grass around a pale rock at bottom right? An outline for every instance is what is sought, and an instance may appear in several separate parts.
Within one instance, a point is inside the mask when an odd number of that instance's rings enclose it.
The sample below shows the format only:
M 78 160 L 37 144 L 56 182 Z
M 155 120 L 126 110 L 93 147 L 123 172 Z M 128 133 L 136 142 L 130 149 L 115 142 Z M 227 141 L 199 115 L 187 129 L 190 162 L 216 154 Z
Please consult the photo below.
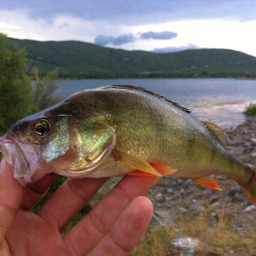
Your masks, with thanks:
M 138 243 L 130 256 L 170 256 L 179 252 L 170 246 L 170 242 L 179 236 L 197 238 L 200 246 L 196 255 L 256 255 L 256 234 L 242 237 L 230 228 L 230 216 L 220 210 L 217 220 L 210 219 L 210 212 L 192 216 L 183 214 L 175 226 L 150 226 L 143 239 Z

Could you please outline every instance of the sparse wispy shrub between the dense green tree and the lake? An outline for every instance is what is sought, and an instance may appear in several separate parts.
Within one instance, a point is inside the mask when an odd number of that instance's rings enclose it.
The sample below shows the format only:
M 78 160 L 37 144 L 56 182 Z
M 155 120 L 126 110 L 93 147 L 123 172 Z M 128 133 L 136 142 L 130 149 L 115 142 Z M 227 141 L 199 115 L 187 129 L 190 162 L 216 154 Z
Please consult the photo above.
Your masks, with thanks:
M 35 109 L 34 112 L 38 112 L 42 109 L 46 109 L 49 106 L 60 101 L 60 97 L 53 96 L 57 89 L 57 82 L 59 71 L 54 69 L 46 73 L 42 78 L 39 77 L 38 68 L 32 69 L 32 79 L 35 81 L 33 94 L 35 98 Z

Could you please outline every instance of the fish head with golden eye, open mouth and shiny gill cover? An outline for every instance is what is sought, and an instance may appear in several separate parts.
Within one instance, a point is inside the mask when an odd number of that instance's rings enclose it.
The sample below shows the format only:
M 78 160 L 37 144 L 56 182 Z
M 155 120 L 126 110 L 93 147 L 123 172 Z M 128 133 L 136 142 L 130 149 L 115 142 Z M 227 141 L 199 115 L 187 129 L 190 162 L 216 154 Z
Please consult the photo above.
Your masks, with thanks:
M 114 129 L 94 114 L 24 118 L 0 138 L 0 151 L 22 185 L 49 172 L 85 176 L 114 146 Z

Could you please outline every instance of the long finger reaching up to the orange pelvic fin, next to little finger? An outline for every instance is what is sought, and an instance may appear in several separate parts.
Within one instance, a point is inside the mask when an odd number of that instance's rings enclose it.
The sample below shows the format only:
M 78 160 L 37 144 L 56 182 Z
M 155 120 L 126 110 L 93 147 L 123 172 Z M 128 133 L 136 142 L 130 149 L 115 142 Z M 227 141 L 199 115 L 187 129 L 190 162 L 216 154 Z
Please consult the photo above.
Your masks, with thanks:
M 81 253 L 89 253 L 112 228 L 123 210 L 137 196 L 145 195 L 158 181 L 156 177 L 126 176 L 64 237 L 67 246 Z

